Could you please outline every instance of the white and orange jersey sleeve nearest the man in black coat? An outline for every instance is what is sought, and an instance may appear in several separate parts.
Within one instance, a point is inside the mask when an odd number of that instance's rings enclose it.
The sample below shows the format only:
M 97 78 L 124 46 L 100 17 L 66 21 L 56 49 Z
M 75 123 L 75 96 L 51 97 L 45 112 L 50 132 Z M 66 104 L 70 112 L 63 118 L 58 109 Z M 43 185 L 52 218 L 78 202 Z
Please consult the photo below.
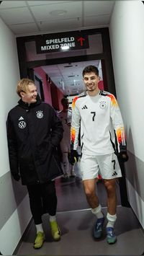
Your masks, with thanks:
M 72 122 L 71 122 L 71 149 L 76 150 L 78 147 L 78 134 L 81 123 L 81 116 L 77 106 L 77 99 L 75 97 L 72 103 Z

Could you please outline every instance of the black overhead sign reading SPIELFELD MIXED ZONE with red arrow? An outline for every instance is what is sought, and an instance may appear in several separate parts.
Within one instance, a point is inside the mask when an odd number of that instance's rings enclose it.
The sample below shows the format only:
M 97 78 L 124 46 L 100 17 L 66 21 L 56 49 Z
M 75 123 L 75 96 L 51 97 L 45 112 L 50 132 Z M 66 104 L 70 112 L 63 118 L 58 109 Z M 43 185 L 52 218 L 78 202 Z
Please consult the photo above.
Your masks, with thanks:
M 38 36 L 35 44 L 37 53 L 52 53 L 89 48 L 89 39 L 79 32 L 74 35 L 70 32 L 56 33 Z

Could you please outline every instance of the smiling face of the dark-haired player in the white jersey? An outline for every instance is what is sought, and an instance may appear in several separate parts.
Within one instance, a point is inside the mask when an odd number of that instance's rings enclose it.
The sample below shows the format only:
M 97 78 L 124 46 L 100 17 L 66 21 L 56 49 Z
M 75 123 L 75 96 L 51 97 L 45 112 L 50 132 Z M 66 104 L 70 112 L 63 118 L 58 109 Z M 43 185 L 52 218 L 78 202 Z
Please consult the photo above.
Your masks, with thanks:
M 99 76 L 97 76 L 94 72 L 84 74 L 83 80 L 88 94 L 95 94 L 99 92 Z

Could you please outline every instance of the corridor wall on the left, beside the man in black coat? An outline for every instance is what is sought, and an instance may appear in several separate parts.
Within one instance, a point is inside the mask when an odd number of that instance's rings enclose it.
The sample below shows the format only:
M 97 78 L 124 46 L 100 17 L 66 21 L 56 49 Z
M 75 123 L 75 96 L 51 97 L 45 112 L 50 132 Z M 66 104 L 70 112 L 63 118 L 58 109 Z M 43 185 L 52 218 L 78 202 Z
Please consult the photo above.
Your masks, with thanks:
M 6 117 L 9 110 L 17 105 L 16 85 L 19 80 L 19 63 L 16 39 L 13 33 L 0 19 L 0 251 L 12 255 L 19 239 L 22 237 L 31 214 L 27 194 L 18 204 L 14 195 L 17 183 L 12 181 L 9 172 L 9 157 L 6 141 Z M 22 186 L 19 193 L 22 194 Z M 17 193 L 18 194 L 18 193 Z

